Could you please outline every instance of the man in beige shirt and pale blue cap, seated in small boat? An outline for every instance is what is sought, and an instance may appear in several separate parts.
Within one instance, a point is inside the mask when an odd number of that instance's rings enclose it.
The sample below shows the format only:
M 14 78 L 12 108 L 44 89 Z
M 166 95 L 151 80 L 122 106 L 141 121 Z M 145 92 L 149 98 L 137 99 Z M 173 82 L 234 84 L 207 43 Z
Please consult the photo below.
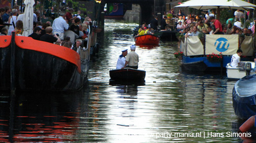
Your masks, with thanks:
M 139 55 L 135 52 L 136 46 L 132 45 L 131 52 L 129 52 L 125 59 L 125 64 L 122 67 L 124 69 L 126 65 L 128 68 L 138 69 Z

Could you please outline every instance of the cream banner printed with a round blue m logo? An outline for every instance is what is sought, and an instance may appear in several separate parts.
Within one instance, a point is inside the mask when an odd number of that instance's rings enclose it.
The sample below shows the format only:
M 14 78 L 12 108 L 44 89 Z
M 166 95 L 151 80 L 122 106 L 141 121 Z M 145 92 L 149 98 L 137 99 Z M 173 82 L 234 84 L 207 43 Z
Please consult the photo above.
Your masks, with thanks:
M 223 55 L 232 55 L 238 50 L 238 35 L 206 35 L 205 54 L 222 52 Z

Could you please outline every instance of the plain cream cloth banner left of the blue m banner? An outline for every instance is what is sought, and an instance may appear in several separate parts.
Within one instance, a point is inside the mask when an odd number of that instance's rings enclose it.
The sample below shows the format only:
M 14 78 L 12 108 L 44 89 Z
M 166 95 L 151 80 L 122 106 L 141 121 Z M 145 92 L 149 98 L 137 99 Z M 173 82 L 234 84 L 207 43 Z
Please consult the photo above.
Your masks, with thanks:
M 189 36 L 185 38 L 186 53 L 185 55 L 203 55 L 204 46 L 198 36 Z

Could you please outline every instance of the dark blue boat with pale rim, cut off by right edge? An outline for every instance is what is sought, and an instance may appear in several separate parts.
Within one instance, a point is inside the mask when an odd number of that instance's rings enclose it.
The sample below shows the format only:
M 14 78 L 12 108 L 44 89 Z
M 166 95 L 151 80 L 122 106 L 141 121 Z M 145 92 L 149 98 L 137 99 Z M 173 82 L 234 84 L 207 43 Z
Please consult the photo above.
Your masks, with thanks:
M 245 76 L 234 84 L 232 92 L 233 109 L 243 120 L 256 114 L 256 74 Z

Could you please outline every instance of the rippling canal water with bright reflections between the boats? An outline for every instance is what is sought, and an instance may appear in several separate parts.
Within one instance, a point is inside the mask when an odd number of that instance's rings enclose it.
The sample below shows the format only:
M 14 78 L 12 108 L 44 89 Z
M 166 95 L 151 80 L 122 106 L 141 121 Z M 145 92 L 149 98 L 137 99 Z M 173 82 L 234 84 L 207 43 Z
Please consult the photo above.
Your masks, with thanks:
M 235 81 L 186 73 L 178 43 L 136 48 L 144 84 L 111 83 L 136 23 L 106 20 L 104 44 L 86 86 L 75 93 L 0 94 L 0 142 L 246 142 L 232 108 Z

